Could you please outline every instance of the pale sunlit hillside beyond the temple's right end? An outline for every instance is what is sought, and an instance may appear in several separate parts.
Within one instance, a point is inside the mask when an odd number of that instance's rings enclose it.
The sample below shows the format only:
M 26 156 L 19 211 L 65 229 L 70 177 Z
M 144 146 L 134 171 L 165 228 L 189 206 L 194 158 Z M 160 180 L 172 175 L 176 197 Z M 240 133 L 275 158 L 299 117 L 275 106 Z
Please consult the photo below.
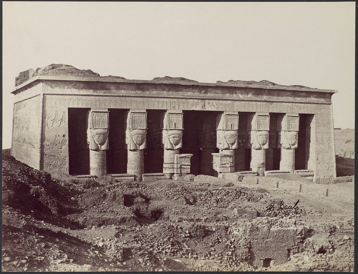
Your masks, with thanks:
M 334 146 L 335 153 L 340 157 L 354 158 L 355 146 L 354 129 L 349 128 L 345 130 L 334 129 Z

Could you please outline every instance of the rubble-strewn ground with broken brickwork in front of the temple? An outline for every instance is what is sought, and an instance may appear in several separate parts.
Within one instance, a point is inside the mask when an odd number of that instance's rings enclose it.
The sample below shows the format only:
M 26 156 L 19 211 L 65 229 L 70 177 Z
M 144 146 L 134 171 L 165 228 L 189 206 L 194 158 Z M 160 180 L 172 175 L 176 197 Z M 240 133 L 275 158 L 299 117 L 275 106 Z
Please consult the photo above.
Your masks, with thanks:
M 3 154 L 2 270 L 354 271 L 353 215 L 267 211 L 298 198 L 262 180 L 54 178 Z

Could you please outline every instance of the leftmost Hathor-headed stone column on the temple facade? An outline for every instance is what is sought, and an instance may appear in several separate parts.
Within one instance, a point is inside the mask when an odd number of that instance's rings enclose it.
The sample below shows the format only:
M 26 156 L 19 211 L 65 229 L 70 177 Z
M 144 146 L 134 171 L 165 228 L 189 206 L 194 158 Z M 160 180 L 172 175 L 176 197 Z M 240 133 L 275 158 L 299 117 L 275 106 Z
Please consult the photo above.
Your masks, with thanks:
M 102 177 L 107 174 L 108 109 L 91 108 L 87 115 L 87 142 L 89 144 L 90 174 Z

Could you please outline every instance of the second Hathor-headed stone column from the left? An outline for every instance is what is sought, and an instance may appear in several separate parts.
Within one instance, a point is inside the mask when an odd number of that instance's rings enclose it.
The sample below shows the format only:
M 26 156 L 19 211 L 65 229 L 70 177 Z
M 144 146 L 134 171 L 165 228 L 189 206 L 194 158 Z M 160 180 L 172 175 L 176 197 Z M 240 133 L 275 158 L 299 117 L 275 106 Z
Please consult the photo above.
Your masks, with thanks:
M 147 112 L 130 109 L 126 117 L 126 144 L 128 150 L 127 173 L 134 174 L 135 181 L 142 181 L 144 149 L 147 147 Z

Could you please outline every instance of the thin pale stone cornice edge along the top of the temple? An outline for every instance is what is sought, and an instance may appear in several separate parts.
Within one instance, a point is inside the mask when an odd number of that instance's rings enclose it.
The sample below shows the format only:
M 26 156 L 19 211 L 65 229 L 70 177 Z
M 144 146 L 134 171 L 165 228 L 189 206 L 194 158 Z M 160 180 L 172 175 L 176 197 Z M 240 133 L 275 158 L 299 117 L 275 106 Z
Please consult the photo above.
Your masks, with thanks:
M 287 91 L 313 91 L 313 92 L 326 92 L 337 93 L 337 90 L 323 90 L 318 88 L 299 88 L 299 87 L 282 87 L 282 86 L 258 86 L 258 85 L 237 85 L 229 83 L 199 83 L 199 82 L 176 82 L 176 81 L 156 81 L 156 80 L 127 80 L 105 77 L 66 77 L 66 76 L 35 76 L 28 81 L 17 86 L 11 93 L 16 94 L 26 89 L 30 83 L 38 80 L 57 80 L 57 81 L 87 81 L 87 82 L 117 82 L 117 83 L 151 83 L 151 84 L 164 84 L 164 85 L 185 85 L 185 86 L 208 86 L 208 87 L 242 87 L 242 88 L 261 88 L 266 90 L 287 90 Z

